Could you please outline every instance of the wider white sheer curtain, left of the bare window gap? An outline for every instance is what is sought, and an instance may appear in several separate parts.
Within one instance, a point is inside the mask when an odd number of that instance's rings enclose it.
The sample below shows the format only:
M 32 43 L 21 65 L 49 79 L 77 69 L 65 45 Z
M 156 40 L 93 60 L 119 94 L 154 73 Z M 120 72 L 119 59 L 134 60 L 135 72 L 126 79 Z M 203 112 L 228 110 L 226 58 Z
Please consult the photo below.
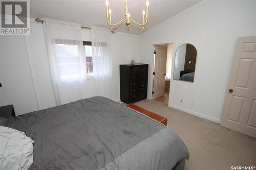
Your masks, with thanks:
M 54 21 L 44 24 L 56 104 L 86 98 L 86 58 L 81 28 Z

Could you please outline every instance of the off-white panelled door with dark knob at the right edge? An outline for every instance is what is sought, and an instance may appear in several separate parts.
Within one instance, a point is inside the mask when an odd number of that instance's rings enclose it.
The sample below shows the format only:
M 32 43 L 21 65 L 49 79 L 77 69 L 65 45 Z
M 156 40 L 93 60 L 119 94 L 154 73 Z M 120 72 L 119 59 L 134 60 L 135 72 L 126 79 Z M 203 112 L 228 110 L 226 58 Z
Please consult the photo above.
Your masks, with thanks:
M 221 126 L 256 137 L 256 36 L 238 38 Z

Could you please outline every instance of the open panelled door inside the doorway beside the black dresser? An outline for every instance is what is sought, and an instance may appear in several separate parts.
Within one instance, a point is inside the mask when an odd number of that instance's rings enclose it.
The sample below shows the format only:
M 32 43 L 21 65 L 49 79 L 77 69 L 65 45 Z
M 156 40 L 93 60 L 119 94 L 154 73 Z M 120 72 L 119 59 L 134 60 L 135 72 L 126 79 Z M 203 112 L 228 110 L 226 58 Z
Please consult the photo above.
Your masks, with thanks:
M 165 70 L 167 58 L 167 46 L 155 45 L 155 75 L 153 78 L 153 99 L 157 99 L 164 94 Z

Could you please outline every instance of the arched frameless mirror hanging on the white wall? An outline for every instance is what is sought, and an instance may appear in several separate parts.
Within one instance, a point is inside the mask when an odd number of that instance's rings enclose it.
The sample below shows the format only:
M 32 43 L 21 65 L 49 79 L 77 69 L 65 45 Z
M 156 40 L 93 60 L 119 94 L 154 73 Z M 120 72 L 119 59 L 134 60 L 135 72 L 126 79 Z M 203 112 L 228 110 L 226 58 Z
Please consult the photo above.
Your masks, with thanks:
M 197 49 L 192 44 L 182 44 L 175 53 L 174 80 L 194 82 Z

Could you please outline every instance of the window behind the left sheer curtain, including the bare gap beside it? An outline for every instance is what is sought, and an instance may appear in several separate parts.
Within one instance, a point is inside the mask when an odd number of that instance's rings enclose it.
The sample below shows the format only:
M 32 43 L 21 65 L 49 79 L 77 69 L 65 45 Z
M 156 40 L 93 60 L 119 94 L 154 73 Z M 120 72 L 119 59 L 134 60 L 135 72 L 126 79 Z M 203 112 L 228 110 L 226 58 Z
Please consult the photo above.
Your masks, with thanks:
M 93 78 L 92 42 L 54 39 L 58 75 L 61 80 Z

